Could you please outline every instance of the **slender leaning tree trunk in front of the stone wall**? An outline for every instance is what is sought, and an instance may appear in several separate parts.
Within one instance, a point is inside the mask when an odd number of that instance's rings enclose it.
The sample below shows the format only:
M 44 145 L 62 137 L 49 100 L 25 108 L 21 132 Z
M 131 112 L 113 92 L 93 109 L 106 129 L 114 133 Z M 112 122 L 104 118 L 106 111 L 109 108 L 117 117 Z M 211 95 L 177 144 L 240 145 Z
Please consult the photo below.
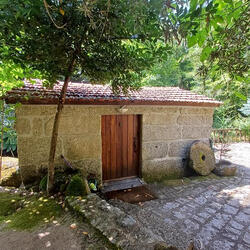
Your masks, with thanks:
M 55 173 L 55 164 L 54 163 L 55 163 L 58 129 L 59 129 L 63 105 L 64 105 L 65 99 L 66 99 L 66 93 L 67 93 L 67 88 L 68 88 L 68 84 L 70 81 L 70 76 L 71 76 L 72 71 L 73 71 L 74 62 L 75 62 L 75 58 L 72 60 L 70 66 L 68 68 L 68 74 L 67 74 L 67 76 L 65 76 L 65 79 L 64 79 L 63 87 L 62 87 L 60 97 L 59 97 L 59 102 L 57 105 L 57 111 L 56 111 L 56 115 L 55 115 L 53 130 L 52 130 L 52 136 L 51 136 L 51 142 L 50 142 L 50 152 L 49 152 L 49 164 L 48 164 L 48 179 L 47 179 L 47 193 L 48 194 L 53 189 L 53 185 L 54 185 L 54 173 Z

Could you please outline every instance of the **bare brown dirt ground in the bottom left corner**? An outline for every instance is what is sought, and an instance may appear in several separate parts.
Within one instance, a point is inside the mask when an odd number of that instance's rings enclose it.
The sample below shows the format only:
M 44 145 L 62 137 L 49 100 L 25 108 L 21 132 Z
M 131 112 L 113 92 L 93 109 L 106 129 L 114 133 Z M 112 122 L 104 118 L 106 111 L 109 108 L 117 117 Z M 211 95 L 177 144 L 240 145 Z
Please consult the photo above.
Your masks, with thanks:
M 52 223 L 29 231 L 0 232 L 1 250 L 80 250 L 111 249 L 109 243 L 89 224 L 70 214 Z

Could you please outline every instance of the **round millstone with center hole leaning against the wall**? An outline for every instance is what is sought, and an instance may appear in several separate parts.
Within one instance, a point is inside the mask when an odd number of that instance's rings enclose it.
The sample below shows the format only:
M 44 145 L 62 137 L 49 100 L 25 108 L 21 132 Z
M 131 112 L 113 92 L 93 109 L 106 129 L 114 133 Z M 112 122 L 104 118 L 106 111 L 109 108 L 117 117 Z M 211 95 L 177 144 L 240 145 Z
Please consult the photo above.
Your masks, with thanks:
M 194 142 L 191 145 L 189 157 L 189 166 L 199 175 L 208 175 L 215 168 L 214 152 L 204 142 Z

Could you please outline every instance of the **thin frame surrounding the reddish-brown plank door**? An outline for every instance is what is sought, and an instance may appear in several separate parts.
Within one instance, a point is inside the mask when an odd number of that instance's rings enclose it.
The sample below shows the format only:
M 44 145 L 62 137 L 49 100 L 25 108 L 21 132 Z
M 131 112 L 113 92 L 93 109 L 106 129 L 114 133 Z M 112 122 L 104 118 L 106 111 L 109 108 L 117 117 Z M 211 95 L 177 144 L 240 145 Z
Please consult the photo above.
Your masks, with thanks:
M 108 179 L 108 180 L 103 180 L 103 157 L 101 158 L 101 171 L 102 171 L 102 182 L 109 182 L 109 181 L 115 181 L 115 180 L 123 180 L 123 179 L 129 179 L 129 178 L 142 178 L 142 114 L 102 114 L 101 115 L 101 148 L 102 148 L 102 153 L 103 153 L 103 139 L 102 139 L 102 117 L 110 115 L 110 116 L 118 116 L 118 115 L 134 115 L 138 117 L 138 140 L 139 140 L 139 148 L 138 148 L 138 175 L 137 176 L 128 176 L 128 177 L 121 177 L 121 178 L 115 178 L 115 179 Z M 102 155 L 102 154 L 101 154 Z

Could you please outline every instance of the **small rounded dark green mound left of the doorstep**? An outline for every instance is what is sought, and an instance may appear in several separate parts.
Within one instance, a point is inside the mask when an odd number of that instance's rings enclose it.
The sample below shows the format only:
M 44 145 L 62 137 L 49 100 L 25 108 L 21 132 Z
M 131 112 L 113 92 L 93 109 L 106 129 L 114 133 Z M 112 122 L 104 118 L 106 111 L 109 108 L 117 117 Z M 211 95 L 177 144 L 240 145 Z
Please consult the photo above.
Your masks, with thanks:
M 67 196 L 87 195 L 87 190 L 83 179 L 79 175 L 74 175 L 66 189 Z

